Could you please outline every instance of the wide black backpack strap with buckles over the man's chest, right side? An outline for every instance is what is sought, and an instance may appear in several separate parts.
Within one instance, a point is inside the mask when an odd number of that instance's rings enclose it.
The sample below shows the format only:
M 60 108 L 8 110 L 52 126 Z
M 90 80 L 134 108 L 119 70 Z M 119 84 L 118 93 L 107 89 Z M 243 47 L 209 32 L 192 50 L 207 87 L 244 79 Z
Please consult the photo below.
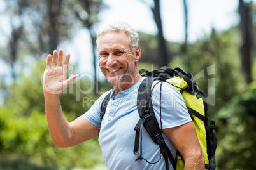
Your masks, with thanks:
M 155 117 L 155 112 L 153 111 L 152 100 L 151 100 L 151 88 L 153 84 L 154 78 L 148 77 L 141 82 L 141 85 L 138 89 L 138 98 L 137 98 L 137 108 L 139 112 L 139 119 L 138 123 L 136 124 L 134 130 L 136 131 L 135 135 L 135 142 L 134 142 L 134 154 L 140 154 L 138 159 L 142 158 L 142 150 L 139 153 L 139 136 L 141 132 L 141 125 L 145 127 L 146 131 L 152 138 L 152 140 L 159 144 L 160 152 L 164 156 L 164 160 L 166 162 L 166 169 L 169 169 L 169 159 L 171 163 L 175 167 L 176 164 L 173 159 L 173 155 L 171 151 L 167 147 L 166 143 L 164 142 L 164 138 L 162 137 L 162 131 L 159 128 L 159 124 Z M 137 159 L 137 160 L 138 160 Z

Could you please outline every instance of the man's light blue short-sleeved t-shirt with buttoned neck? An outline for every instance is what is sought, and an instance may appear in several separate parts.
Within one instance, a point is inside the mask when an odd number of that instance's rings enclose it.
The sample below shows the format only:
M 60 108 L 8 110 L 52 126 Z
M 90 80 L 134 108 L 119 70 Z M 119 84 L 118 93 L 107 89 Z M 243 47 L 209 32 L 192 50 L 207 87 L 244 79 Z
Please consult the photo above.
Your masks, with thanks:
M 115 100 L 113 100 L 115 93 L 113 91 L 111 93 L 112 98 L 108 102 L 99 134 L 99 145 L 101 146 L 103 160 L 108 169 L 165 169 L 164 157 L 160 154 L 159 145 L 153 142 L 143 126 L 142 146 L 140 146 L 142 147 L 142 157 L 148 160 L 148 162 L 159 162 L 148 164 L 145 160 L 135 161 L 139 155 L 133 153 L 135 140 L 134 127 L 139 121 L 136 105 L 137 93 L 143 79 L 145 78 L 141 78 L 131 88 L 120 91 Z M 97 127 L 99 127 L 100 122 L 101 103 L 104 96 L 108 93 L 109 91 L 101 95 L 90 110 L 83 114 L 83 117 L 87 121 Z M 160 83 L 158 83 L 152 91 L 152 103 L 159 127 L 162 126 L 162 129 L 173 128 L 192 121 L 188 114 L 185 101 L 177 89 L 164 82 L 161 93 L 162 100 L 160 103 Z M 162 106 L 161 119 L 160 104 Z M 176 154 L 176 147 L 174 147 L 173 143 L 171 143 L 164 133 L 163 136 L 172 154 Z M 171 163 L 169 169 L 173 169 Z

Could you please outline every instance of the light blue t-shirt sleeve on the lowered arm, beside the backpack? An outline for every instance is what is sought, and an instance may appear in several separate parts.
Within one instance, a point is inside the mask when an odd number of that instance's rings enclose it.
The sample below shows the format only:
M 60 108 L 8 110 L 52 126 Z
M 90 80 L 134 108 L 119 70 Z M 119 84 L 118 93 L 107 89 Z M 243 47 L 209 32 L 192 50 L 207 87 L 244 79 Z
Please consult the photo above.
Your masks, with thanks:
M 157 82 L 159 81 L 154 83 Z M 159 127 L 162 129 L 173 128 L 192 121 L 180 92 L 167 82 L 159 82 L 153 88 L 152 104 Z

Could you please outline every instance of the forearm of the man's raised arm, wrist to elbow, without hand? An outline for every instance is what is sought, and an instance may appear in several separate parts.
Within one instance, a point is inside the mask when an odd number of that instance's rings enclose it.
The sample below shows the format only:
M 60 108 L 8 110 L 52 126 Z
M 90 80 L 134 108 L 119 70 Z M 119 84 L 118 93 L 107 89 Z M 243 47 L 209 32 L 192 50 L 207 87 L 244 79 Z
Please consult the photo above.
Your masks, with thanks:
M 45 112 L 53 143 L 57 147 L 68 147 L 71 128 L 62 113 L 59 95 L 45 93 Z

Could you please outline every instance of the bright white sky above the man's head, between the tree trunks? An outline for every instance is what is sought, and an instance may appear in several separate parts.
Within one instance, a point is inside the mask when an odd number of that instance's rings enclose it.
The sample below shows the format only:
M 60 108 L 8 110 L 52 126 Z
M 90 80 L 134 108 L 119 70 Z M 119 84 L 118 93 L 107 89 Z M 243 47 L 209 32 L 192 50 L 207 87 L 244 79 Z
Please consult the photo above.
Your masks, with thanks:
M 125 20 L 135 30 L 157 34 L 150 5 L 153 0 L 104 0 L 110 6 L 100 13 L 101 23 L 112 20 Z M 212 27 L 217 30 L 229 29 L 239 22 L 236 14 L 238 0 L 187 0 L 188 6 L 188 41 L 209 34 Z M 164 36 L 169 41 L 182 42 L 184 36 L 184 15 L 182 0 L 161 0 L 160 14 Z

